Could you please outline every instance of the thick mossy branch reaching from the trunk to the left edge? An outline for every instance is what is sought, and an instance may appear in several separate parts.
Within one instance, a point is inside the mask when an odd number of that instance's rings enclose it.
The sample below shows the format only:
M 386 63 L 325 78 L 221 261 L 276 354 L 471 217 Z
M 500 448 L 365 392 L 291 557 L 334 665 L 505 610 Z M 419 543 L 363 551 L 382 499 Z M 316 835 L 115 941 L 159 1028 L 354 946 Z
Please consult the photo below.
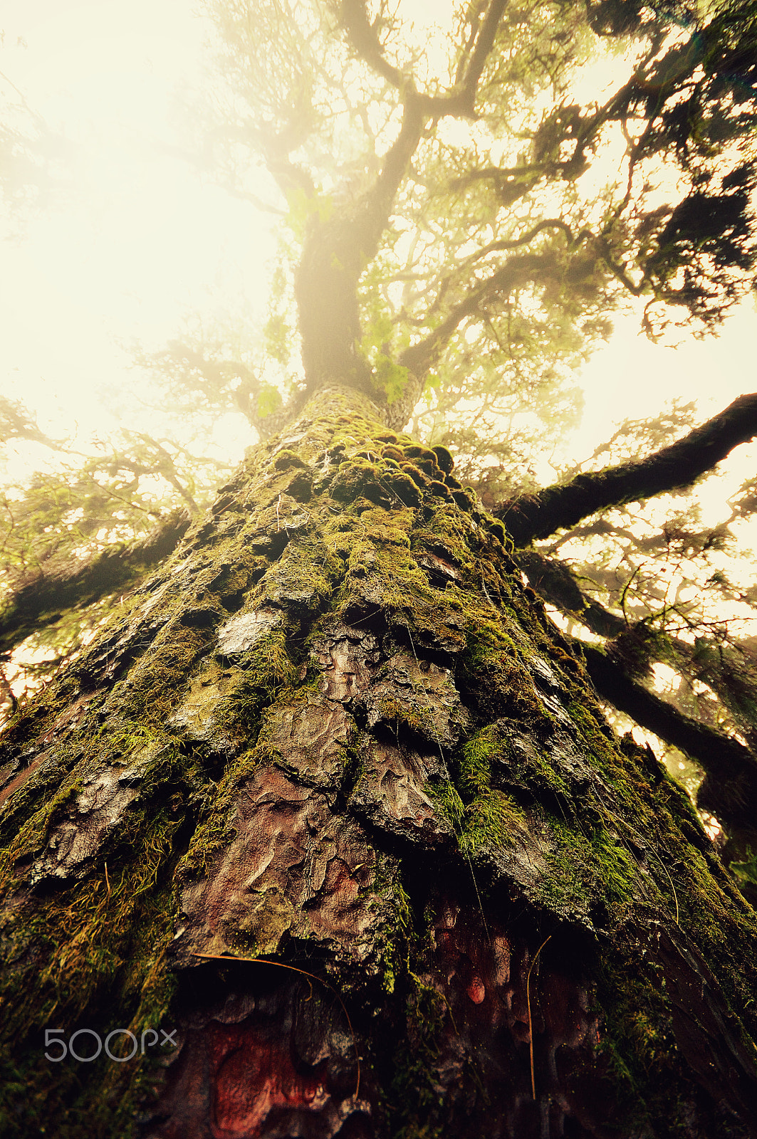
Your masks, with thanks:
M 90 562 L 56 565 L 26 580 L 0 613 L 0 655 L 55 623 L 66 609 L 132 585 L 176 549 L 189 525 L 186 510 L 173 510 L 138 542 L 103 550 Z

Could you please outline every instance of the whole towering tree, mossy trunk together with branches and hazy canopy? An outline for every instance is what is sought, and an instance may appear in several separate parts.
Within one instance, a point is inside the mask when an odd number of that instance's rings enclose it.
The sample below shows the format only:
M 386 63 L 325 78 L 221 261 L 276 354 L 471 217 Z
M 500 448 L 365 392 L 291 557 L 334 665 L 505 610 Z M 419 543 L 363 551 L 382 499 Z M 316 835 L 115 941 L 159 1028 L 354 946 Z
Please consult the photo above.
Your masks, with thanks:
M 186 448 L 152 437 L 108 457 L 105 478 L 89 461 L 92 482 L 75 484 L 75 502 L 62 506 L 40 485 L 27 489 L 22 510 L 15 500 L 7 506 L 21 516 L 10 533 L 22 551 L 5 613 L 7 648 L 56 617 L 62 599 L 65 608 L 101 605 L 143 582 L 128 596 L 128 614 L 116 613 L 36 711 L 23 710 L 8 730 L 6 819 L 9 833 L 26 828 L 10 862 L 7 912 L 24 915 L 8 935 L 10 1023 L 19 1009 L 48 1023 L 57 1000 L 83 1024 L 83 1011 L 101 1006 L 108 962 L 117 1007 L 141 1026 L 169 1007 L 193 952 L 286 951 L 291 964 L 301 948 L 309 960 L 317 949 L 363 1010 L 357 1032 L 337 1016 L 324 1038 L 296 986 L 275 982 L 267 992 L 267 982 L 223 973 L 239 965 L 213 973 L 219 992 L 231 994 L 223 1015 L 212 1001 L 201 1011 L 186 982 L 173 1005 L 185 1017 L 182 1058 L 163 1085 L 164 1117 L 152 1116 L 153 1133 L 260 1133 L 278 1126 L 276 1117 L 329 1134 L 342 1124 L 345 1134 L 374 1125 L 407 1134 L 464 1125 L 603 1134 L 616 1124 L 621 1133 L 662 1134 L 674 1095 L 683 1105 L 676 1126 L 686 1116 L 694 1133 L 747 1134 L 755 1073 L 741 1033 L 750 1029 L 754 916 L 651 753 L 628 738 L 619 753 L 603 731 L 580 662 L 609 702 L 705 767 L 701 803 L 725 826 L 749 894 L 754 655 L 722 608 L 735 591 L 711 560 L 727 527 L 749 513 L 752 489 L 710 532 L 681 510 L 661 526 L 651 514 L 645 532 L 626 508 L 691 486 L 751 439 L 757 398 L 687 434 L 685 408 L 667 421 L 628 424 L 609 444 L 614 464 L 565 472 L 555 486 L 519 485 L 518 470 L 529 435 L 548 445 L 575 416 L 570 368 L 608 334 L 608 313 L 625 296 L 644 297 L 644 322 L 657 335 L 676 312 L 711 328 L 749 287 L 754 8 L 722 5 L 701 15 L 684 6 L 521 9 L 490 0 L 456 14 L 436 74 L 433 52 L 414 49 L 384 7 L 214 11 L 226 82 L 213 138 L 227 159 L 223 177 L 244 191 L 242 158 L 252 142 L 288 206 L 266 330 L 271 360 L 263 371 L 242 353 L 231 362 L 219 345 L 177 343 L 154 363 L 171 378 L 173 399 L 177 387 L 179 400 L 202 395 L 200 412 L 234 404 L 262 436 L 298 415 L 299 426 L 261 445 L 188 533 L 188 519 L 174 515 L 148 542 L 109 544 L 130 536 L 129 527 L 138 533 L 137 519 L 150 514 L 138 493 L 143 476 L 160 474 L 171 487 L 166 508 L 198 506 L 177 465 Z M 625 74 L 607 97 L 581 100 L 578 68 L 597 38 L 612 43 Z M 608 155 L 614 170 L 622 166 L 609 181 Z M 293 305 L 301 371 L 286 351 Z M 336 396 L 334 384 L 352 394 Z M 7 416 L 10 429 L 34 432 L 23 409 L 9 405 Z M 408 423 L 424 446 L 401 434 Z M 652 453 L 628 461 L 640 441 Z M 194 452 L 189 460 L 200 461 Z M 98 514 L 108 497 L 128 500 L 111 521 Z M 238 516 L 245 510 L 247 522 Z M 34 547 L 40 533 L 47 557 Z M 148 577 L 182 535 L 174 585 L 170 570 Z M 59 570 L 56 555 L 81 549 L 82 539 L 89 558 Z M 694 605 L 689 595 L 702 567 L 714 601 Z M 535 595 L 522 592 L 516 571 L 571 628 L 608 645 L 579 652 L 565 641 Z M 465 604 L 454 599 L 458 589 Z M 221 664 L 206 654 L 219 625 Z M 677 707 L 644 683 L 656 661 L 684 680 Z M 693 711 L 705 716 L 684 714 Z M 36 715 L 46 741 L 65 737 L 51 761 L 39 744 L 29 747 L 32 735 L 42 739 Z M 319 718 L 328 721 L 320 736 Z M 97 722 L 108 741 L 99 736 L 95 755 Z M 123 790 L 108 790 L 114 764 L 137 753 L 148 775 L 137 772 L 132 784 L 124 776 Z M 222 767 L 217 797 L 211 785 Z M 40 806 L 64 772 L 60 795 Z M 401 794 L 389 790 L 394 785 Z M 239 794 L 258 804 L 251 813 Z M 263 820 L 283 809 L 266 803 L 287 803 L 293 817 L 310 820 L 290 835 L 307 853 L 294 862 L 274 854 L 251 906 L 237 867 L 255 862 L 254 836 L 268 834 Z M 335 828 L 339 858 L 324 861 L 304 837 L 319 827 Z M 278 851 L 278 838 L 271 842 Z M 410 869 L 420 860 L 425 872 L 439 852 L 455 883 L 448 898 Z M 293 870 L 303 860 L 312 879 L 304 893 Z M 121 874 L 115 896 L 108 861 Z M 100 862 L 104 877 L 93 872 Z M 358 877 L 364 867 L 369 874 Z M 344 872 L 358 884 L 355 898 L 329 877 Z M 461 902 L 471 875 L 473 910 Z M 35 884 L 56 878 L 64 893 L 47 902 Z M 184 941 L 169 952 L 174 926 L 157 915 L 177 891 Z M 84 917 L 72 936 L 80 903 Z M 341 907 L 337 918 L 326 917 L 329 906 Z M 52 932 L 40 940 L 42 915 Z M 569 964 L 561 972 L 544 949 L 536 1029 L 529 984 L 543 934 L 560 942 Z M 597 950 L 603 934 L 607 952 Z M 26 999 L 19 993 L 46 936 L 58 964 Z M 584 967 L 589 949 L 593 964 Z M 649 968 L 634 953 L 649 954 Z M 72 962 L 87 970 L 83 995 L 67 988 Z M 451 997 L 445 969 L 455 978 Z M 660 976 L 671 995 L 656 1003 Z M 685 995 L 699 989 L 697 1000 Z M 247 1023 L 251 993 L 258 1011 Z M 599 1018 L 588 1015 L 592 1000 Z M 407 1018 L 398 1014 L 406 1006 Z M 469 1006 L 481 1006 L 486 1025 Z M 372 1007 L 374 1030 L 365 1019 Z M 743 1014 L 741 1026 L 734 1014 Z M 223 1025 L 209 1030 L 220 1033 L 217 1052 L 209 1032 L 203 1042 L 188 1027 L 203 1016 Z M 239 1060 L 229 1075 L 235 1021 L 247 1023 L 239 1056 L 246 1049 L 294 1068 L 286 1088 L 253 1081 L 255 1095 L 231 1111 L 251 1071 Z M 275 1023 L 294 1041 L 294 1062 L 283 1058 Z M 396 1068 L 381 1059 L 386 1041 L 399 1049 Z M 529 1044 L 529 1066 L 519 1041 Z M 352 1044 L 369 1058 L 364 1100 Z M 660 1064 L 664 1074 L 652 1080 Z M 193 1075 L 203 1065 L 214 1073 L 210 1084 Z M 596 1108 L 589 1079 L 607 1095 Z M 104 1133 L 113 1104 L 132 1109 L 114 1080 Z M 65 1080 L 60 1088 L 66 1125 L 75 1126 L 91 1092 L 78 1098 Z

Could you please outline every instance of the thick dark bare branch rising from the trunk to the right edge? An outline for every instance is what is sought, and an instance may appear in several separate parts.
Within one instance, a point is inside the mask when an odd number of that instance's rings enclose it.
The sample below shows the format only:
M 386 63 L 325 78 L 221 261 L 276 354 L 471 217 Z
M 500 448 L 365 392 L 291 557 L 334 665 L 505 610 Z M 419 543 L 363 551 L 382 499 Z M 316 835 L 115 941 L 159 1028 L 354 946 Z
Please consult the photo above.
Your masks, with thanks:
M 608 507 L 691 486 L 734 446 L 757 435 L 757 394 L 741 395 L 684 439 L 646 459 L 577 475 L 564 486 L 507 499 L 494 511 L 516 546 L 547 538 Z

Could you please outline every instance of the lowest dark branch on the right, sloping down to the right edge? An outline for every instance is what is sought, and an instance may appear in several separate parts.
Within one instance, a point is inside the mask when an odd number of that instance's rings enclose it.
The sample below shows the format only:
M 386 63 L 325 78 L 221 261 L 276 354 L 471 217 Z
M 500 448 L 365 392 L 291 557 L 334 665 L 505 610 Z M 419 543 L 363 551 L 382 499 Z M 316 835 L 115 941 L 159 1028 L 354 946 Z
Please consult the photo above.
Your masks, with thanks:
M 580 644 L 597 693 L 642 728 L 653 731 L 695 760 L 707 778 L 699 805 L 715 814 L 732 835 L 755 831 L 757 759 L 738 739 L 691 720 L 667 700 L 630 680 L 602 649 Z

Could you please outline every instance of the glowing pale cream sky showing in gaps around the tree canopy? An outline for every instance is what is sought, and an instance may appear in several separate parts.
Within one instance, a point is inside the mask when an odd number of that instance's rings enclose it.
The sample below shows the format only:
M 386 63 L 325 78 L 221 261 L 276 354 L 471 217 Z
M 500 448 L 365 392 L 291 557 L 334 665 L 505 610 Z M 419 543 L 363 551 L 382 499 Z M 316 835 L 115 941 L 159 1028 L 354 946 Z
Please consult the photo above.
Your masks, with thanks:
M 178 93 L 201 87 L 205 66 L 205 27 L 187 0 L 5 0 L 0 28 L 0 71 L 74 155 L 71 192 L 0 230 L 0 385 L 52 434 L 63 434 L 56 421 L 95 429 L 98 391 L 129 383 L 120 345 L 160 349 L 190 311 L 246 306 L 262 318 L 268 221 L 176 154 Z M 619 321 L 584 372 L 570 452 L 584 458 L 613 421 L 674 396 L 699 399 L 708 416 L 754 391 L 755 344 L 750 302 L 718 339 L 682 337 L 675 351 Z

